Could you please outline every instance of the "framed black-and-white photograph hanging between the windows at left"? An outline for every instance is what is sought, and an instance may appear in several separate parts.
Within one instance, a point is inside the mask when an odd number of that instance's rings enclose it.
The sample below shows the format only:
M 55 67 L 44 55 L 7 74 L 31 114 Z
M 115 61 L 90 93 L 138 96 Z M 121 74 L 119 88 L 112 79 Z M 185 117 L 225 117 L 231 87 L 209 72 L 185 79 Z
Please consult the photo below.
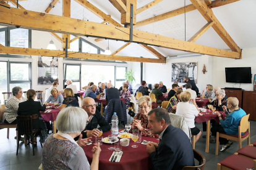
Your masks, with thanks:
M 37 62 L 38 84 L 53 84 L 53 81 L 59 83 L 58 57 L 38 56 Z

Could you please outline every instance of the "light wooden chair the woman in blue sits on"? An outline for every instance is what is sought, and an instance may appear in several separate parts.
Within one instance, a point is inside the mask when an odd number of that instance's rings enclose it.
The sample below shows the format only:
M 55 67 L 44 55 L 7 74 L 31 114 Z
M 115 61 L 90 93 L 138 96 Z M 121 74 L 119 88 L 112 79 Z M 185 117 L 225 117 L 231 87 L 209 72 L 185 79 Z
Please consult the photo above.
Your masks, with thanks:
M 218 151 L 219 151 L 219 137 L 237 141 L 239 145 L 239 149 L 242 148 L 242 141 L 244 141 L 245 139 L 247 139 L 247 144 L 250 145 L 250 122 L 248 121 L 249 116 L 250 114 L 242 116 L 240 120 L 240 126 L 238 126 L 238 135 L 228 135 L 228 134 L 222 134 L 220 132 L 216 133 L 215 155 L 218 155 Z M 244 134 L 242 135 L 241 133 L 243 132 Z

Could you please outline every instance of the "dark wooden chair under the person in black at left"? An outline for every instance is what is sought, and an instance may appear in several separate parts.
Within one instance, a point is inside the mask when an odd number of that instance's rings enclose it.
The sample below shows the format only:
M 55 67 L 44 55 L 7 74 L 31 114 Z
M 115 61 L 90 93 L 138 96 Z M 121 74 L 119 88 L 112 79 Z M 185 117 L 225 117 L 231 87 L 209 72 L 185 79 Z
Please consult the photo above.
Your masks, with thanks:
M 32 148 L 33 148 L 33 156 L 35 156 L 35 150 L 34 150 L 34 137 L 35 133 L 39 132 L 40 130 L 33 131 L 33 124 L 32 120 L 38 118 L 38 115 L 32 115 L 32 116 L 17 116 L 17 129 L 18 129 L 18 141 L 20 140 L 20 136 L 22 135 L 30 135 L 31 141 L 32 141 Z M 29 140 L 29 139 L 28 139 Z M 35 141 L 36 142 L 36 141 Z M 40 142 L 41 147 L 43 148 L 42 143 Z M 28 147 L 30 146 L 30 143 L 28 141 Z M 16 155 L 18 155 L 19 151 L 19 142 L 17 144 L 17 152 Z

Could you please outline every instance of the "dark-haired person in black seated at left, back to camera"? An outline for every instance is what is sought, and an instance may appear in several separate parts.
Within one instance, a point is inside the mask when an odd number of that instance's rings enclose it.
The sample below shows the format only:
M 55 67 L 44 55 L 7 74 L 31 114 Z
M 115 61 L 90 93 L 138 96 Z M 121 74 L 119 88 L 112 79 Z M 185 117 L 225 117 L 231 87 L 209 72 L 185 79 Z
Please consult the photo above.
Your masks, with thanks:
M 36 146 L 36 136 L 40 136 L 40 141 L 45 142 L 47 138 L 47 129 L 45 122 L 41 118 L 40 111 L 45 111 L 47 102 L 43 103 L 43 106 L 40 102 L 35 102 L 36 92 L 33 89 L 27 91 L 27 101 L 19 103 L 18 116 L 32 116 L 37 114 L 38 118 L 32 120 L 33 130 L 40 130 L 36 132 L 34 138 L 34 144 Z M 19 130 L 19 129 L 18 129 Z M 32 141 L 32 140 L 31 140 Z M 31 142 L 30 141 L 30 142 Z

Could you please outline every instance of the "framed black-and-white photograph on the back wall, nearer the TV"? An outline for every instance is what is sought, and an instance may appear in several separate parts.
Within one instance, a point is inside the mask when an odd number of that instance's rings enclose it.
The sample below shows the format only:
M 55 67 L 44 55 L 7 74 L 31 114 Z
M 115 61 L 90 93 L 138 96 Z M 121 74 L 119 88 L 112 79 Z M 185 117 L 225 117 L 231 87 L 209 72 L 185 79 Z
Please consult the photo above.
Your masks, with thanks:
M 194 63 L 172 63 L 172 76 L 171 81 L 177 81 L 184 83 L 184 77 L 188 76 L 190 79 L 194 79 L 197 83 L 197 62 Z

